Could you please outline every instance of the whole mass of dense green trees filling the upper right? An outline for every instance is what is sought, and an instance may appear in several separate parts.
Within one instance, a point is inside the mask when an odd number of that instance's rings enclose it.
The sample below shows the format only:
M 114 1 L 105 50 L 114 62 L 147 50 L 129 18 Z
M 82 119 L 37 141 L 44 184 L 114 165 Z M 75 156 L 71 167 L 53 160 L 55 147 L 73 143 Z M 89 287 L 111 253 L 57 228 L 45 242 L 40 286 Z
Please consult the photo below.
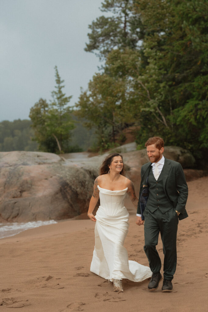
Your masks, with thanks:
M 99 144 L 139 124 L 137 143 L 160 135 L 166 145 L 208 151 L 208 16 L 205 0 L 105 0 L 89 26 L 86 51 L 105 59 L 77 103 Z M 116 32 L 115 29 L 118 29 Z

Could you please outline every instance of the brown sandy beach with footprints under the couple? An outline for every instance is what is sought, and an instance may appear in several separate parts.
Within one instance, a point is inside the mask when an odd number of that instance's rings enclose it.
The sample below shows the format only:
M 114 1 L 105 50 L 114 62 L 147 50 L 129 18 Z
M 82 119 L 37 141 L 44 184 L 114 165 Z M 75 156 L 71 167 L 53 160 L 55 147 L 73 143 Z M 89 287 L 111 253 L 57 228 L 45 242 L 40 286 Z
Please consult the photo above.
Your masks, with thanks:
M 204 312 L 207 311 L 208 177 L 188 182 L 189 217 L 179 222 L 177 269 L 173 292 L 147 290 L 148 281 L 123 281 L 124 293 L 113 292 L 108 281 L 90 272 L 94 222 L 67 220 L 2 238 L 0 310 L 25 312 Z M 125 241 L 129 259 L 148 265 L 143 251 L 144 229 L 130 227 Z M 157 250 L 163 259 L 161 239 Z

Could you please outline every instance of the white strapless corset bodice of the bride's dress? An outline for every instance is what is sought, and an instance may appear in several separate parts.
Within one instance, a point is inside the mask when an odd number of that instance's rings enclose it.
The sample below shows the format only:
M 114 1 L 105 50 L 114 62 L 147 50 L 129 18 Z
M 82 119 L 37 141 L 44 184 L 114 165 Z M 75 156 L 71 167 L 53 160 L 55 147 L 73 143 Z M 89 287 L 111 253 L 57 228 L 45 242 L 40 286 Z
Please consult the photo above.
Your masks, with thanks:
M 124 208 L 124 198 L 128 188 L 121 191 L 110 191 L 97 186 L 100 193 L 100 207 L 108 216 L 114 216 Z

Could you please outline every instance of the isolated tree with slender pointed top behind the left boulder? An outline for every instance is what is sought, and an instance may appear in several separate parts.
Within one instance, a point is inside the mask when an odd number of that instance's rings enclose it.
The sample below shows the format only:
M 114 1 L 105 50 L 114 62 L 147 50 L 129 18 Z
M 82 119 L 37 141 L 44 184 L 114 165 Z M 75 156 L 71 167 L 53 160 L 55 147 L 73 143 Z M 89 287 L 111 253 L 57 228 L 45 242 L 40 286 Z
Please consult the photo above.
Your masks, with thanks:
M 52 91 L 50 104 L 40 99 L 30 110 L 29 117 L 35 130 L 35 138 L 39 148 L 44 151 L 59 153 L 67 152 L 70 141 L 70 131 L 75 125 L 71 118 L 71 107 L 67 106 L 72 96 L 66 96 L 57 66 L 55 66 L 56 90 Z

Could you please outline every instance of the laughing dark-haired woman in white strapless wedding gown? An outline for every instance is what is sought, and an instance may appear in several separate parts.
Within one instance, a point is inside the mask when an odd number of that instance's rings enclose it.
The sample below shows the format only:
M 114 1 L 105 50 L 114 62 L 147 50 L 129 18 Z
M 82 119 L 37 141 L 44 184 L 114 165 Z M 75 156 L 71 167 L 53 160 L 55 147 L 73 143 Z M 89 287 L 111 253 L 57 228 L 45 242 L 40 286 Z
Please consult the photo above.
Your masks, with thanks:
M 87 216 L 95 225 L 95 249 L 90 271 L 113 282 L 114 291 L 123 292 L 122 279 L 140 282 L 151 277 L 149 267 L 129 261 L 123 246 L 128 233 L 129 213 L 124 207 L 126 193 L 137 208 L 138 198 L 133 183 L 124 177 L 122 155 L 108 155 L 95 179 Z M 93 210 L 100 197 L 96 215 Z

